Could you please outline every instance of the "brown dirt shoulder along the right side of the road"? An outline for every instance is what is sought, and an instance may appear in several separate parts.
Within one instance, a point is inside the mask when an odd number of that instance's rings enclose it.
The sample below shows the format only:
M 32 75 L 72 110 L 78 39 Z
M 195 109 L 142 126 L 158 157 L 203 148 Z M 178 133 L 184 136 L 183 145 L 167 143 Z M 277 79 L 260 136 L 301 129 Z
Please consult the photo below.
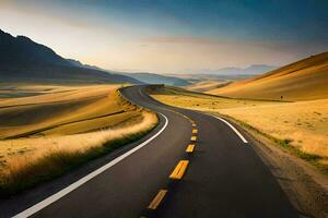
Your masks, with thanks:
M 290 202 L 301 214 L 305 217 L 328 216 L 328 175 L 278 147 L 263 135 L 243 128 L 233 119 L 229 120 L 247 135 L 255 152 L 268 166 Z

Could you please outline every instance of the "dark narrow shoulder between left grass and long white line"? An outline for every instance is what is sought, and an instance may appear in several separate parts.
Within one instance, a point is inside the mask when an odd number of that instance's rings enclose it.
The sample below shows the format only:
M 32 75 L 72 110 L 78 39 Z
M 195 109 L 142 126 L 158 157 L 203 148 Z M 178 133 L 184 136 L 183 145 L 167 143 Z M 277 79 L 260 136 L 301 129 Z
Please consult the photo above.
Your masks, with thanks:
M 81 180 L 87 174 L 96 171 L 108 162 L 119 158 L 129 150 L 136 148 L 140 144 L 147 142 L 149 138 L 154 136 L 159 131 L 161 131 L 164 125 L 164 117 L 159 117 L 159 123 L 154 126 L 148 134 L 143 135 L 137 141 L 128 143 L 124 146 L 114 149 L 113 152 L 99 156 L 95 159 L 84 162 L 83 165 L 67 171 L 61 177 L 54 180 L 44 182 L 38 186 L 32 187 L 30 190 L 23 191 L 16 195 L 8 198 L 0 198 L 0 217 L 12 217 L 36 204 L 44 201 L 45 198 L 60 192 L 61 190 L 68 187 L 72 183 Z

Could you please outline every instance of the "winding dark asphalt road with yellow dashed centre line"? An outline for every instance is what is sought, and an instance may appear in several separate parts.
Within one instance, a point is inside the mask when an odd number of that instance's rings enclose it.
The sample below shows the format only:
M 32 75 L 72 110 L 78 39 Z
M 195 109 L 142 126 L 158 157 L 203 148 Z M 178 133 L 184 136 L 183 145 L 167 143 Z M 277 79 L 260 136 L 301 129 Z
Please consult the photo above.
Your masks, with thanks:
M 167 118 L 168 122 L 161 117 L 160 126 L 148 136 L 155 137 L 32 217 L 297 217 L 250 143 L 222 120 L 162 105 L 143 88 L 121 93 Z M 188 155 L 190 121 L 198 133 Z M 189 161 L 184 177 L 169 179 L 179 160 Z M 165 190 L 164 198 L 156 209 L 148 209 L 160 190 Z

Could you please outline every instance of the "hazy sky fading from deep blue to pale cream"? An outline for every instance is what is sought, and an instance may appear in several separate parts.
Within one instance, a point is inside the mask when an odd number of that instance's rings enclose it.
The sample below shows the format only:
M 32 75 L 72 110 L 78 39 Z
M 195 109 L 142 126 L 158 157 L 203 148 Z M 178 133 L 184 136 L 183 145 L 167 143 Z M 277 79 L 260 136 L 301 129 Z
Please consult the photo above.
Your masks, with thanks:
M 328 1 L 0 0 L 0 28 L 108 70 L 282 65 L 328 51 Z

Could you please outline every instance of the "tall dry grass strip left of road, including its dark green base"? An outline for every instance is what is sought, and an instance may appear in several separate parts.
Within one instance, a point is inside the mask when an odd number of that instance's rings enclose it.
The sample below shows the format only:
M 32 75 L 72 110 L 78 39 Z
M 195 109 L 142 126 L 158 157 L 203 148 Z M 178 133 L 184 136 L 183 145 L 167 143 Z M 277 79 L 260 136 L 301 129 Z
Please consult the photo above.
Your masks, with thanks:
M 0 194 L 5 196 L 42 181 L 62 174 L 68 169 L 134 141 L 157 123 L 156 114 L 142 111 L 142 120 L 119 129 L 92 133 L 0 141 L 0 147 L 28 148 L 2 157 Z

